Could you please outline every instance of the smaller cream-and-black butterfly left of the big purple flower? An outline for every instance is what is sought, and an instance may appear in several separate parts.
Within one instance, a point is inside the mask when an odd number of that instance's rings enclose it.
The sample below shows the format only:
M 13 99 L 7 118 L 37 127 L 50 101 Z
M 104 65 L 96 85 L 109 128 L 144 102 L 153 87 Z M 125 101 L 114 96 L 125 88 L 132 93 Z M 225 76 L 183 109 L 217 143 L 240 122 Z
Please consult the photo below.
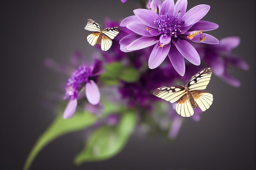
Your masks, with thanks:
M 101 25 L 92 19 L 87 20 L 87 24 L 84 28 L 87 31 L 96 31 L 87 36 L 87 41 L 92 46 L 96 44 L 101 45 L 102 51 L 108 51 L 112 46 L 112 40 L 117 36 L 121 27 L 112 27 L 102 29 Z

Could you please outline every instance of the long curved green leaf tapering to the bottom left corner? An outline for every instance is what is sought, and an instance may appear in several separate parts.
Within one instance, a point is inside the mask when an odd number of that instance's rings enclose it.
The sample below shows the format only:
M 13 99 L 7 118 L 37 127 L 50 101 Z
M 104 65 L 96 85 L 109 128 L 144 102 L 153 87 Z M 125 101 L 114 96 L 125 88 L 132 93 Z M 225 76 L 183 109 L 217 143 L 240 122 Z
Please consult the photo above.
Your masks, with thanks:
M 27 157 L 23 170 L 28 170 L 36 155 L 51 141 L 69 132 L 84 129 L 97 121 L 97 117 L 89 112 L 76 112 L 70 119 L 63 119 L 62 114 L 57 115 L 54 122 L 39 137 Z

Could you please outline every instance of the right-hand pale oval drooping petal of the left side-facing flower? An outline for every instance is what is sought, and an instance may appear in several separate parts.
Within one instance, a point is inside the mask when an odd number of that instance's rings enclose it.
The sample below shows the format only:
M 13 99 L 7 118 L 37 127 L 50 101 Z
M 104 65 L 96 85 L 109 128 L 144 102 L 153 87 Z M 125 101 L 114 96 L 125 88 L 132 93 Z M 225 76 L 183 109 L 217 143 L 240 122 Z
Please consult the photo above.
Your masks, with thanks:
M 88 83 L 85 84 L 85 93 L 88 101 L 91 104 L 98 104 L 100 100 L 100 93 L 99 93 L 99 88 L 97 84 L 93 81 L 90 80 Z

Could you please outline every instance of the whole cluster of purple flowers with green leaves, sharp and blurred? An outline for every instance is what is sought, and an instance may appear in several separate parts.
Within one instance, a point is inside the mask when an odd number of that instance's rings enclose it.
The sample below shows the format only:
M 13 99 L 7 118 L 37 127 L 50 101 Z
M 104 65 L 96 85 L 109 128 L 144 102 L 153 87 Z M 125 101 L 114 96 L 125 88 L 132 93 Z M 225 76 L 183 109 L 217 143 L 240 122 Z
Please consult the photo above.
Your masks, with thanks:
M 38 144 L 86 129 L 88 141 L 75 162 L 108 159 L 125 146 L 132 132 L 147 134 L 160 130 L 171 140 L 177 137 L 184 118 L 175 112 L 175 103 L 153 95 L 156 88 L 184 84 L 205 67 L 211 67 L 216 76 L 231 86 L 240 86 L 239 80 L 229 75 L 230 66 L 249 69 L 242 57 L 232 52 L 240 39 L 227 37 L 219 41 L 205 33 L 218 28 L 216 23 L 201 20 L 209 5 L 199 4 L 187 11 L 187 0 L 149 0 L 144 7 L 147 9 L 135 9 L 135 15 L 121 22 L 106 19 L 106 27 L 110 28 L 106 30 L 114 30 L 113 35 L 117 35 L 112 38 L 106 38 L 107 34 L 103 35 L 99 25 L 90 20 L 87 30 L 98 31 L 88 40 L 96 45 L 97 57 L 92 58 L 97 59 L 93 64 L 81 62 L 81 53 L 77 51 L 70 60 L 75 66 L 72 69 L 47 60 L 47 66 L 70 76 L 65 95 L 63 92 L 68 102 L 61 119 L 57 118 L 58 124 L 51 126 L 57 132 L 52 133 L 50 128 L 45 133 L 50 137 L 46 135 Z M 116 26 L 122 29 L 113 29 Z M 101 51 L 104 43 L 95 37 L 105 38 L 109 43 L 105 45 L 111 48 Z M 201 112 L 195 108 L 191 118 L 199 121 Z M 28 161 L 43 146 L 35 146 Z

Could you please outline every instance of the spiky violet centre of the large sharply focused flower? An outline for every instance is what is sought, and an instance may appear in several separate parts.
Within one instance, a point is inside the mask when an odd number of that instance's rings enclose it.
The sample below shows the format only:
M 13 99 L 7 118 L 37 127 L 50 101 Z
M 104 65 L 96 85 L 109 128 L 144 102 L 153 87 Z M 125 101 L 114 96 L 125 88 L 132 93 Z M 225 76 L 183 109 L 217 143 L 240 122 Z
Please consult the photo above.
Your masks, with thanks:
M 177 15 L 172 14 L 159 15 L 154 20 L 154 24 L 157 25 L 159 33 L 171 34 L 172 37 L 177 38 L 177 35 L 181 34 L 183 20 L 179 20 Z

